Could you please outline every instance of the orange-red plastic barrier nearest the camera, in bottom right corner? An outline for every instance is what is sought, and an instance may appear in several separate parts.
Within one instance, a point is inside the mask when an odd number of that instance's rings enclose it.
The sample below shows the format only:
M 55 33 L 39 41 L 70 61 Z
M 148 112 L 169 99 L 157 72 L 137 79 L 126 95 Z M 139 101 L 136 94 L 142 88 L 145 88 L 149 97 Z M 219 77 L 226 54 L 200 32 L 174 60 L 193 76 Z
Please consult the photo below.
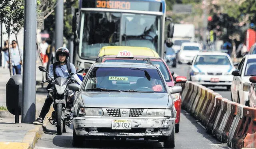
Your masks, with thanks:
M 244 107 L 243 108 L 243 118 L 242 122 L 238 127 L 236 128 L 235 134 L 232 142 L 232 147 L 234 148 L 242 148 L 244 146 L 249 146 L 256 143 L 256 140 L 254 137 L 248 137 L 246 138 L 247 133 L 252 134 L 255 133 L 256 129 L 256 109 L 252 107 Z M 246 138 L 245 142 L 244 139 Z M 245 143 L 245 144 L 244 144 Z

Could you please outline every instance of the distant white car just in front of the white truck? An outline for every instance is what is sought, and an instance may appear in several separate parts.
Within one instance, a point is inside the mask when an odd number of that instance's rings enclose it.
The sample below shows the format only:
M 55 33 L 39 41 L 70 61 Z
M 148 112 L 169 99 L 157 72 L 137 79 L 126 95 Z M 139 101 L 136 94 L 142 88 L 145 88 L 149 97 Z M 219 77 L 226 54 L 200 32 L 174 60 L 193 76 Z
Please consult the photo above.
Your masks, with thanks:
M 194 56 L 201 51 L 200 43 L 185 42 L 182 43 L 178 53 L 179 63 L 192 63 Z

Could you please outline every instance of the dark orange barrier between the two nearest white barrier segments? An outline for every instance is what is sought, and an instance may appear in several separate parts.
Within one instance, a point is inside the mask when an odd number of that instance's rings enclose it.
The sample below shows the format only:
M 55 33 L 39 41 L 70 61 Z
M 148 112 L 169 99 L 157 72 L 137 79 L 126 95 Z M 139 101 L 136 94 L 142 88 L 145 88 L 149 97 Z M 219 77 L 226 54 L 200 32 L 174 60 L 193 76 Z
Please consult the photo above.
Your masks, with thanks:
M 230 109 L 230 113 L 229 113 L 229 116 L 228 116 L 228 120 L 226 122 L 226 125 L 223 129 L 223 132 L 221 134 L 221 141 L 226 143 L 227 142 L 227 139 L 228 139 L 228 134 L 229 134 L 229 130 L 230 130 L 230 127 L 234 121 L 234 118 L 236 117 L 236 114 L 237 114 L 237 106 L 239 105 L 238 103 L 236 102 L 230 102 L 230 106 L 231 106 L 231 109 Z M 228 109 L 229 109 L 229 103 L 228 103 Z

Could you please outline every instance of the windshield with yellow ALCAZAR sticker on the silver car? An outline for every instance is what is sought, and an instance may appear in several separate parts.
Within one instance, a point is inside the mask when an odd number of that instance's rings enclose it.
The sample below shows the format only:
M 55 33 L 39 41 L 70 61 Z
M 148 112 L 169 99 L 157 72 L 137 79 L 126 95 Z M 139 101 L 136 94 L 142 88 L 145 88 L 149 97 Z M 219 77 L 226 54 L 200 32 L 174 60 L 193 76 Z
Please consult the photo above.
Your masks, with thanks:
M 157 69 L 146 68 L 93 68 L 83 90 L 92 91 L 93 88 L 136 92 L 166 92 L 164 82 Z

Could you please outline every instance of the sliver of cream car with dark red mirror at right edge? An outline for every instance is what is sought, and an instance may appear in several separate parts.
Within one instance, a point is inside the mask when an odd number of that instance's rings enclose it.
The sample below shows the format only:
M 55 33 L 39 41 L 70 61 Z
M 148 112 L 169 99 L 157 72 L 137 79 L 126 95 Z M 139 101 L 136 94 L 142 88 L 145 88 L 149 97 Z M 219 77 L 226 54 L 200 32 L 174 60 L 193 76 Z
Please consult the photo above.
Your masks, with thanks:
M 250 89 L 249 89 L 249 106 L 256 108 L 256 76 L 250 77 Z

